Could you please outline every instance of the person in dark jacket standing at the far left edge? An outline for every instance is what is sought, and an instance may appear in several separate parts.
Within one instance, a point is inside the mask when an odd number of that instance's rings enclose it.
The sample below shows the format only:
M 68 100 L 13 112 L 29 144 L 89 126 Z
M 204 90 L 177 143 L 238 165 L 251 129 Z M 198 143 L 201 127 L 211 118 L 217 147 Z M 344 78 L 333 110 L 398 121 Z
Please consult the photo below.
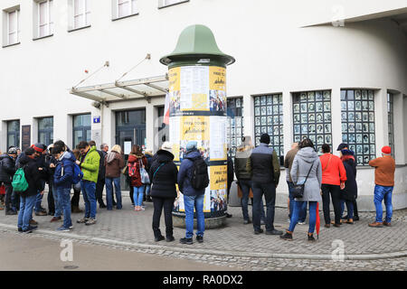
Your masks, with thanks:
M 10 147 L 7 154 L 0 156 L 0 182 L 5 184 L 5 215 L 17 214 L 17 211 L 12 208 L 13 187 L 11 184 L 15 172 L 16 158 L 17 150 L 15 147 Z

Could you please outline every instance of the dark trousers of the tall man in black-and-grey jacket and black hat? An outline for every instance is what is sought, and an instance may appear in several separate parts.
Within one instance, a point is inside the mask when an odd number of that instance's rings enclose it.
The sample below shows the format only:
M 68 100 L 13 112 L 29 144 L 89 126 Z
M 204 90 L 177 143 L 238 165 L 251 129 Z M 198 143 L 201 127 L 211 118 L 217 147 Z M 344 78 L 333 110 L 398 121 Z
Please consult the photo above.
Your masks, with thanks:
M 253 228 L 255 231 L 260 230 L 261 219 L 261 199 L 264 194 L 266 200 L 266 230 L 272 231 L 274 229 L 274 209 L 276 203 L 276 185 L 273 182 L 260 183 L 252 182 L 253 190 Z

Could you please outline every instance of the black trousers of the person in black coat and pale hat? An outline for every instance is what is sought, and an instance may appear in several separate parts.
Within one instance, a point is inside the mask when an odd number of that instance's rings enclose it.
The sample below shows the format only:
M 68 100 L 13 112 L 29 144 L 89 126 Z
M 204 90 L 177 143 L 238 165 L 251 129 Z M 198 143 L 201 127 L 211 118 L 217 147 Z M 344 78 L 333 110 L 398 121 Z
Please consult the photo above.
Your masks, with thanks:
M 154 237 L 161 236 L 160 218 L 164 208 L 164 219 L 166 220 L 166 237 L 173 236 L 173 207 L 174 198 L 156 198 L 153 197 L 154 213 L 153 213 L 153 231 Z

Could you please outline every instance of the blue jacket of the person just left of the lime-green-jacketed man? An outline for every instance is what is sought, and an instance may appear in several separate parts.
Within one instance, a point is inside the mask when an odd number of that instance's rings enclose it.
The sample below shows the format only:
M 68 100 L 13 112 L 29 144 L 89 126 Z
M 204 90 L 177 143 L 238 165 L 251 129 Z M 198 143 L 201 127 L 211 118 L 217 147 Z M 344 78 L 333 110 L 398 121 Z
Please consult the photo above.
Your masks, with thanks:
M 71 189 L 73 180 L 73 163 L 75 156 L 70 152 L 64 152 L 55 167 L 53 173 L 53 185 L 55 188 Z

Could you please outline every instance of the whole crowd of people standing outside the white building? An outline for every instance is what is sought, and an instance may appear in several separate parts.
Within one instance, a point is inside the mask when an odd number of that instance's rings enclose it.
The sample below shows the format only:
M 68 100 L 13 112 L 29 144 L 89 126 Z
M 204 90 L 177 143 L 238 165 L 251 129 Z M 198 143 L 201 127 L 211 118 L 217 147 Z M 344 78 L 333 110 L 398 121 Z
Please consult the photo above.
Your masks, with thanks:
M 279 156 L 270 147 L 270 135 L 260 137 L 260 145 L 253 147 L 251 137 L 244 136 L 237 149 L 234 163 L 228 157 L 227 194 L 232 186 L 234 174 L 238 190 L 241 192 L 241 210 L 244 224 L 252 223 L 254 234 L 264 232 L 267 235 L 279 235 L 292 240 L 297 224 L 305 224 L 309 211 L 308 241 L 313 236 L 317 222 L 317 203 L 322 201 L 325 227 L 353 224 L 359 219 L 357 211 L 357 183 L 355 153 L 347 144 L 340 144 L 337 151 L 340 157 L 331 154 L 328 144 L 322 145 L 322 155 L 318 156 L 314 144 L 308 138 L 292 144 L 286 154 L 286 168 L 289 188 L 289 229 L 283 233 L 274 228 L 276 188 L 279 185 Z M 194 210 L 197 220 L 196 241 L 204 242 L 204 193 L 209 185 L 208 166 L 196 141 L 185 146 L 185 157 L 179 171 L 174 163 L 172 145 L 164 143 L 152 154 L 143 153 L 142 148 L 134 144 L 125 162 L 120 145 L 114 145 L 109 151 L 108 144 L 97 149 L 94 141 L 82 141 L 74 150 L 57 141 L 48 147 L 33 144 L 24 152 L 17 147 L 9 147 L 6 154 L 0 156 L 0 197 L 5 215 L 18 214 L 17 228 L 30 233 L 37 228 L 35 216 L 51 215 L 51 222 L 61 222 L 59 231 L 73 228 L 71 213 L 83 213 L 76 223 L 86 226 L 97 223 L 97 203 L 99 209 L 122 210 L 120 177 L 126 176 L 130 187 L 129 197 L 135 211 L 145 210 L 144 201 L 152 201 L 154 212 L 152 228 L 155 241 L 166 239 L 174 241 L 172 211 L 178 191 L 184 195 L 185 238 L 182 244 L 194 243 Z M 392 193 L 394 186 L 395 163 L 391 148 L 384 146 L 382 157 L 369 164 L 375 168 L 374 205 L 376 219 L 370 227 L 392 226 Z M 42 207 L 45 184 L 48 183 L 48 211 Z M 303 185 L 302 197 L 295 196 L 295 188 Z M 103 190 L 106 187 L 106 204 Z M 71 196 L 71 190 L 73 195 Z M 114 191 L 114 193 L 113 193 Z M 80 210 L 80 192 L 85 203 Z M 266 211 L 263 206 L 266 202 Z M 252 220 L 248 210 L 249 199 L 252 203 Z M 116 200 L 115 200 L 116 199 Z M 332 200 L 335 218 L 330 218 Z M 386 217 L 383 221 L 382 202 L 386 205 Z M 3 205 L 4 203 L 4 205 Z M 345 211 L 347 215 L 343 216 Z M 225 206 L 226 207 L 226 206 Z M 160 230 L 160 218 L 164 210 L 166 237 Z M 232 215 L 226 216 L 231 218 Z

